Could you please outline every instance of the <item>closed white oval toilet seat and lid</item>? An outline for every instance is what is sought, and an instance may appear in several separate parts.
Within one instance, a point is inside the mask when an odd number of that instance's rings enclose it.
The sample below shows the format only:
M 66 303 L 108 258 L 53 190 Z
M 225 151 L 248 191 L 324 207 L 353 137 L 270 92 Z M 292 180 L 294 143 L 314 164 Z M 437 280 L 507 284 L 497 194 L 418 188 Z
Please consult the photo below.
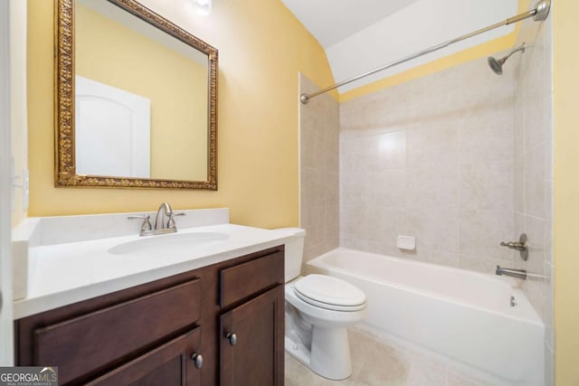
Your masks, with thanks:
M 365 308 L 365 294 L 344 280 L 325 275 L 308 275 L 294 283 L 299 299 L 334 311 L 359 311 Z

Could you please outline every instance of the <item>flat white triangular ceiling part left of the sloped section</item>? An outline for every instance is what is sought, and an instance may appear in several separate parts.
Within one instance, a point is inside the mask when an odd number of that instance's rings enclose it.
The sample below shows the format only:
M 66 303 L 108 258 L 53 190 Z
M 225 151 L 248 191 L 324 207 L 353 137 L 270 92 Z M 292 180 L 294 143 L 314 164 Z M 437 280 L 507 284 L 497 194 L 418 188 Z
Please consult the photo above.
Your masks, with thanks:
M 417 0 L 281 0 L 327 48 Z

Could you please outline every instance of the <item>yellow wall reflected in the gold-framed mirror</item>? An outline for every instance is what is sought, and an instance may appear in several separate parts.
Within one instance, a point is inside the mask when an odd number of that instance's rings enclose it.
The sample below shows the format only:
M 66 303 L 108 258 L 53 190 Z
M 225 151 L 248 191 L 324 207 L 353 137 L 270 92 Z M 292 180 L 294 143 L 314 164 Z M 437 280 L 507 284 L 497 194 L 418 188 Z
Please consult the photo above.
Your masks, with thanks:
M 80 3 L 74 15 L 76 74 L 151 101 L 151 178 L 206 181 L 207 63 Z

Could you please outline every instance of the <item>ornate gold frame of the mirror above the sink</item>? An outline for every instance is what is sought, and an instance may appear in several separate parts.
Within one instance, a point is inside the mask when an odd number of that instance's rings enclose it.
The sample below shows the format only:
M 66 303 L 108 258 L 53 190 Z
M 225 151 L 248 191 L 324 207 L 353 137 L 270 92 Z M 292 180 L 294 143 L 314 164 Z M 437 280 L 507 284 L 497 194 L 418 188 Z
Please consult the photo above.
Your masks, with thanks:
M 177 181 L 76 174 L 74 144 L 74 0 L 56 0 L 55 185 L 217 190 L 217 49 L 134 0 L 109 0 L 174 36 L 209 60 L 207 181 Z

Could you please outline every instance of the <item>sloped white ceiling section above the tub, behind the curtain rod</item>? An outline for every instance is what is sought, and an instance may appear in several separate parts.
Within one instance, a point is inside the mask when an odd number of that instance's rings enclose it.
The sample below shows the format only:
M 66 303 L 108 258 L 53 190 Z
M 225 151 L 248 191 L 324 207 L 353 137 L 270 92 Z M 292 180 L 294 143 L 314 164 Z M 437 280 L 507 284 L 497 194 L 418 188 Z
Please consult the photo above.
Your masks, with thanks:
M 341 42 L 326 48 L 327 59 L 337 81 L 346 80 L 446 42 L 466 33 L 496 24 L 517 14 L 517 0 L 418 0 Z M 503 26 L 438 52 L 381 71 L 339 89 L 345 92 L 489 42 L 514 31 Z

